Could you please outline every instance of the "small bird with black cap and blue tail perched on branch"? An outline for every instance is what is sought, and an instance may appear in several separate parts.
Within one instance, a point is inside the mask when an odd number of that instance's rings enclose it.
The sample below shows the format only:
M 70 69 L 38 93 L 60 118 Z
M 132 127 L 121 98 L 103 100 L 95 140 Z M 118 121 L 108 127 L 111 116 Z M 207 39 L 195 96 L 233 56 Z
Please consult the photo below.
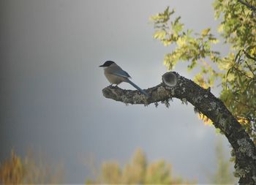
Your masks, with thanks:
M 129 80 L 129 78 L 131 78 L 129 76 L 129 74 L 126 71 L 124 71 L 123 69 L 121 69 L 121 67 L 119 67 L 115 62 L 105 61 L 105 63 L 99 67 L 104 67 L 105 76 L 108 79 L 108 81 L 111 83 L 111 86 L 113 84 L 116 84 L 116 86 L 117 86 L 119 83 L 127 82 L 127 83 L 131 84 L 132 86 L 134 86 L 135 88 L 137 88 L 141 94 L 144 94 L 144 95 L 146 95 L 146 97 L 149 97 L 149 95 L 146 93 L 146 91 L 143 91 L 135 83 L 133 83 L 131 80 Z

